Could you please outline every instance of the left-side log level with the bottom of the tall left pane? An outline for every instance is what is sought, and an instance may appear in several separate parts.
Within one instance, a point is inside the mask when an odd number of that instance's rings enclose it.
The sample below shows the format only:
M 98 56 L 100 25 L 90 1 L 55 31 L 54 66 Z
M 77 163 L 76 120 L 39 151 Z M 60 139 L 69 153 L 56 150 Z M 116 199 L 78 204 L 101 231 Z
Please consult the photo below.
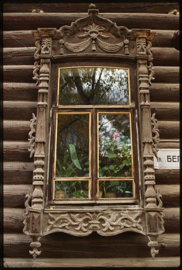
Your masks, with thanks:
M 4 184 L 32 184 L 33 178 L 33 162 L 29 160 L 19 162 L 4 162 L 3 163 L 3 182 Z

